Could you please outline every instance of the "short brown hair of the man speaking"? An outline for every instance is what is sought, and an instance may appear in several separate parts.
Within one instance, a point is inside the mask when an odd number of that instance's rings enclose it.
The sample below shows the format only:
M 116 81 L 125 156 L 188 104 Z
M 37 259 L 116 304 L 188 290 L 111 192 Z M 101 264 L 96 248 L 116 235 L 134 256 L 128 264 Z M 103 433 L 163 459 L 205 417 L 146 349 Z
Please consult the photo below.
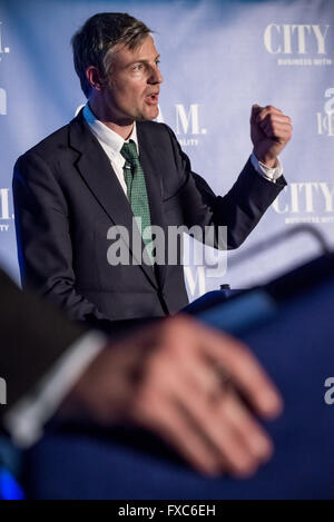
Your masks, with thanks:
M 88 98 L 91 90 L 86 78 L 89 66 L 106 78 L 109 72 L 106 56 L 110 49 L 117 43 L 136 49 L 150 32 L 144 22 L 124 12 L 101 12 L 89 18 L 71 39 L 75 68 L 85 96 Z

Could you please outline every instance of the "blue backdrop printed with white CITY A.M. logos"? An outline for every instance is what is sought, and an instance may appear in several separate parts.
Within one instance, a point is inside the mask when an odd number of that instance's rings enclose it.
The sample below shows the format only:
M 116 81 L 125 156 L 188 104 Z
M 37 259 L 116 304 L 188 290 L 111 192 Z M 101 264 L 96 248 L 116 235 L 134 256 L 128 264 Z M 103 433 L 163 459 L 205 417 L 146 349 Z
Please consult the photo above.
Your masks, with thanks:
M 185 267 L 189 297 L 220 283 L 248 286 L 314 255 L 316 244 L 301 236 L 237 262 L 240 250 L 295 224 L 314 224 L 333 244 L 332 0 L 1 0 L 0 255 L 11 274 L 19 278 L 13 164 L 85 102 L 70 38 L 101 11 L 127 11 L 155 31 L 165 78 L 159 118 L 216 193 L 230 187 L 252 151 L 252 104 L 274 105 L 293 119 L 293 140 L 281 158 L 289 186 L 242 249 L 228 255 L 227 272 Z

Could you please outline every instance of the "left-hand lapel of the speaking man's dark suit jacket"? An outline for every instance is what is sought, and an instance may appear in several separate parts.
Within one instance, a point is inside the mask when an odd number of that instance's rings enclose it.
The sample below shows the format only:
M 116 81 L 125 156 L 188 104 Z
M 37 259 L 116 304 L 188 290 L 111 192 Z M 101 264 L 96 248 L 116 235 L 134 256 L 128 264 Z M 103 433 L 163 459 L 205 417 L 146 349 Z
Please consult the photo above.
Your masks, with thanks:
M 144 248 L 138 228 L 132 227 L 134 214 L 131 207 L 117 179 L 108 156 L 88 128 L 81 112 L 70 122 L 69 139 L 70 146 L 80 152 L 80 157 L 76 164 L 77 169 L 112 223 L 116 226 L 120 225 L 118 229 L 119 234 L 132 257 L 145 272 L 150 283 L 157 286 L 153 267 L 141 263 L 140 256 L 131 248 L 129 243 L 129 239 L 131 240 L 131 234 L 136 236 L 136 238 L 134 238 L 136 244 L 141 245 L 141 252 Z M 122 227 L 128 230 L 128 234 L 124 233 Z

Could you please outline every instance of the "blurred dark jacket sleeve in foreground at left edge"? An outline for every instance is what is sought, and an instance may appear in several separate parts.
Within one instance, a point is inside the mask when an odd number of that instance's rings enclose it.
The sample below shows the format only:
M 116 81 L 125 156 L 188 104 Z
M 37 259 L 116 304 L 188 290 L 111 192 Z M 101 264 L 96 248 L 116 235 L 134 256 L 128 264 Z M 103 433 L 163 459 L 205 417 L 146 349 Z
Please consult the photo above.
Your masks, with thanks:
M 7 383 L 8 408 L 30 392 L 70 345 L 86 331 L 66 319 L 53 306 L 21 292 L 0 269 L 0 376 Z

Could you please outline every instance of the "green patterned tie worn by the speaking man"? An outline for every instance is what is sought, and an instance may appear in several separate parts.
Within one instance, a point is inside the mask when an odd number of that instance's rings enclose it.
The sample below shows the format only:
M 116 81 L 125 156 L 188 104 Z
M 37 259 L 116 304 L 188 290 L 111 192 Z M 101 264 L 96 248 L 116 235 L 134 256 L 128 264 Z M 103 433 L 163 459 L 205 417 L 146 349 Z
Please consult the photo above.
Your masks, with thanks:
M 146 252 L 149 255 L 150 262 L 154 263 L 153 252 L 151 248 L 149 248 L 154 245 L 151 244 L 150 213 L 145 175 L 139 161 L 135 141 L 130 140 L 128 144 L 124 144 L 120 154 L 126 160 L 124 166 L 124 177 L 127 185 L 127 196 L 136 220 L 138 217 L 141 218 L 141 228 L 137 220 L 141 236 L 143 232 L 149 227 L 145 233 L 145 239 L 143 237 L 143 242 L 146 246 Z

